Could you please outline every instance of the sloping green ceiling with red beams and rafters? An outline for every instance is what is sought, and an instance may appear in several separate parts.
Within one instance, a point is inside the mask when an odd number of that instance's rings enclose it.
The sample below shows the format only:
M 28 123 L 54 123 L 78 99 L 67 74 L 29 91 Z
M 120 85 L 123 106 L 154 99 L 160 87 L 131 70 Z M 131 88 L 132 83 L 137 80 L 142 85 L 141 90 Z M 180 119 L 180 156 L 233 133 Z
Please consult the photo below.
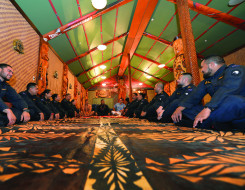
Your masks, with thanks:
M 100 11 L 93 8 L 90 0 L 11 2 L 47 38 L 87 89 L 103 80 L 113 82 L 118 76 L 127 75 L 125 61 L 128 54 L 134 81 L 153 87 L 158 81 L 173 80 L 175 55 L 172 41 L 180 34 L 177 8 L 173 2 L 107 0 L 107 7 Z M 245 3 L 229 7 L 228 0 L 195 2 L 245 19 Z M 244 22 L 242 29 L 195 10 L 190 9 L 190 15 L 199 57 L 224 56 L 244 46 Z M 107 49 L 99 51 L 97 46 L 100 44 L 106 44 Z M 162 64 L 165 67 L 159 68 L 158 65 Z M 106 68 L 101 69 L 101 65 Z M 106 79 L 101 76 L 106 76 Z

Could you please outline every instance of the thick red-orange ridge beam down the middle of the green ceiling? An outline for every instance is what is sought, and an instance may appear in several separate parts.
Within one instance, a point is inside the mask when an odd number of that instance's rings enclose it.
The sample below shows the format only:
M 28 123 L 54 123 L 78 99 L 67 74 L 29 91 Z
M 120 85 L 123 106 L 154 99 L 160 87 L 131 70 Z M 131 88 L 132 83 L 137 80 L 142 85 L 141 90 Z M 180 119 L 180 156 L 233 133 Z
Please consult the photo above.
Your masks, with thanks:
M 128 38 L 123 51 L 118 75 L 122 76 L 128 66 L 128 54 L 132 58 L 140 39 L 146 29 L 146 26 L 151 19 L 151 16 L 156 8 L 158 0 L 139 0 L 134 12 L 134 17 L 129 29 Z

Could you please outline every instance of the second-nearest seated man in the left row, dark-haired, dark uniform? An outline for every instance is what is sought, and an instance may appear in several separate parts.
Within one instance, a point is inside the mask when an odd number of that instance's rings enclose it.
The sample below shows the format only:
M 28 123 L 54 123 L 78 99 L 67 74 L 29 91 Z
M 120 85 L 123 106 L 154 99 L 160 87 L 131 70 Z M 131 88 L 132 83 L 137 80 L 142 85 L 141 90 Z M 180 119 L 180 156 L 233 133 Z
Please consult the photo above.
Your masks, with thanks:
M 26 86 L 26 91 L 20 92 L 19 95 L 25 100 L 30 110 L 31 120 L 32 121 L 43 121 L 44 120 L 44 113 L 38 107 L 42 104 L 37 97 L 38 93 L 38 86 L 36 83 L 28 83 Z M 41 105 L 41 107 L 44 107 Z M 45 109 L 45 108 L 44 108 Z M 48 109 L 46 112 L 50 112 Z M 50 112 L 51 114 L 51 112 Z

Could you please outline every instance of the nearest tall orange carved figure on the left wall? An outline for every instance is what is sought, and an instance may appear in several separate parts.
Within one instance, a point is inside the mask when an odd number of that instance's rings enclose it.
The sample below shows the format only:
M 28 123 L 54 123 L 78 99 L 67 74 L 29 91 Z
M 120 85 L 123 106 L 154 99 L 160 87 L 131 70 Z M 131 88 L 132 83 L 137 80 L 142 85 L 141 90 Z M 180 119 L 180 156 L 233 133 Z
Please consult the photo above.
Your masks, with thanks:
M 38 94 L 41 94 L 48 86 L 48 50 L 48 44 L 46 42 L 41 42 L 40 62 L 38 65 L 37 76 Z

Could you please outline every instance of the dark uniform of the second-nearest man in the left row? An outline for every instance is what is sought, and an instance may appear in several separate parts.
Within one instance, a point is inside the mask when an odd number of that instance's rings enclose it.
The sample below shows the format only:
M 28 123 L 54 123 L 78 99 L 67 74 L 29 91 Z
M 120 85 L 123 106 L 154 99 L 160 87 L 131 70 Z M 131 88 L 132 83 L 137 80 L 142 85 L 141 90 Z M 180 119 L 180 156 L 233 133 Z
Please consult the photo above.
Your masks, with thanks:
M 40 120 L 40 113 L 42 111 L 36 105 L 36 96 L 32 96 L 27 90 L 20 92 L 19 95 L 23 98 L 23 100 L 27 103 L 28 109 L 30 110 L 30 116 L 32 121 Z

